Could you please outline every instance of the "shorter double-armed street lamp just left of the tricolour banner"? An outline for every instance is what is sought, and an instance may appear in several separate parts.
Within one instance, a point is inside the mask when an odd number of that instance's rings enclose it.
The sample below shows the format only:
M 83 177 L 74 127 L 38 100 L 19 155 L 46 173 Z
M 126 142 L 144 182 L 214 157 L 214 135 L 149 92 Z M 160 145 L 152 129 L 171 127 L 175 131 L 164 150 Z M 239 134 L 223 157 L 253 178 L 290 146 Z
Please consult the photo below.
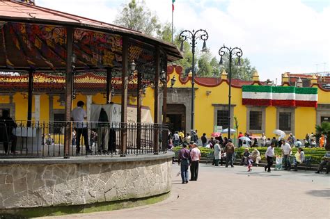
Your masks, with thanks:
M 219 49 L 220 62 L 219 65 L 223 65 L 223 56 L 225 54 L 229 55 L 229 94 L 228 94 L 228 138 L 230 138 L 230 99 L 231 99 L 231 64 L 233 61 L 233 56 L 237 56 L 238 63 L 237 65 L 241 65 L 241 56 L 243 55 L 242 49 L 238 47 L 226 47 L 223 44 L 223 47 Z

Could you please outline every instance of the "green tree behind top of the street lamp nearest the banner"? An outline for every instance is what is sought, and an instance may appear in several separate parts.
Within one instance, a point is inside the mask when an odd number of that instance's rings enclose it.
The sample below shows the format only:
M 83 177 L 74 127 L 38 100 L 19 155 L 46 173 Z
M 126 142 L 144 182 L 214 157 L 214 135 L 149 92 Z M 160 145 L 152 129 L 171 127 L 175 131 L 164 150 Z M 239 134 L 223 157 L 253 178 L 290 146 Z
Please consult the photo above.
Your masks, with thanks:
M 241 65 L 238 66 L 238 58 L 233 58 L 231 65 L 231 75 L 233 79 L 242 79 L 249 81 L 252 79 L 253 73 L 256 72 L 256 67 L 251 67 L 249 58 L 241 58 Z M 229 73 L 229 60 L 228 56 L 223 56 L 223 67 L 220 72 L 226 70 Z

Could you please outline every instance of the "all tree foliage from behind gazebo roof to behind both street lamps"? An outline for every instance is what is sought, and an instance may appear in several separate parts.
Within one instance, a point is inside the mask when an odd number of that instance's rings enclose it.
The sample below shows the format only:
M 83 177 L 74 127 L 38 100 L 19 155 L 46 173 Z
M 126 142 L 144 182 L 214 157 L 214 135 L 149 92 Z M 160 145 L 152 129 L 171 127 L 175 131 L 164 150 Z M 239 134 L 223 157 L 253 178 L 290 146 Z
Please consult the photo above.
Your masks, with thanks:
M 146 2 L 131 0 L 127 5 L 118 12 L 118 16 L 114 22 L 119 26 L 124 26 L 129 29 L 141 31 L 147 35 L 156 35 L 157 38 L 167 42 L 172 42 L 172 26 L 171 23 L 161 24 L 158 21 L 157 15 L 154 15 L 150 9 L 146 6 Z M 179 34 L 173 30 L 174 44 L 180 48 L 181 42 Z M 196 76 L 217 76 L 219 77 L 222 70 L 229 72 L 229 60 L 228 56 L 223 57 L 224 66 L 220 67 L 216 56 L 212 56 L 210 51 L 206 53 L 200 53 L 196 48 L 195 54 L 195 72 Z M 177 65 L 181 65 L 186 74 L 191 71 L 192 52 L 190 42 L 184 42 L 183 58 L 175 61 Z M 232 77 L 233 79 L 251 80 L 253 72 L 256 71 L 255 67 L 251 67 L 250 60 L 248 58 L 242 58 L 242 65 L 238 67 L 235 65 L 237 58 L 233 60 L 232 65 Z

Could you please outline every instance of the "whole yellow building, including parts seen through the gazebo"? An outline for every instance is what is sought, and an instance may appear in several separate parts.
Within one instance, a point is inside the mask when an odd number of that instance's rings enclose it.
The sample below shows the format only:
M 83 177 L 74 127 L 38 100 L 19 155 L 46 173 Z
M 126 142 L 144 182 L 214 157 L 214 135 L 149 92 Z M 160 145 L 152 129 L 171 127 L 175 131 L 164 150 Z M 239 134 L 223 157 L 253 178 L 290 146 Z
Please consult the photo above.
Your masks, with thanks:
M 210 136 L 210 133 L 217 131 L 217 129 L 228 127 L 227 76 L 226 72 L 222 72 L 220 78 L 195 78 L 195 129 L 198 130 L 199 136 L 203 132 Z M 26 120 L 26 77 L 1 76 L 3 86 L 1 86 L 0 93 L 0 109 L 8 109 L 10 116 L 15 120 Z M 171 79 L 173 77 L 176 79 L 176 82 L 173 88 L 171 88 Z M 14 79 L 16 81 L 13 81 Z M 8 83 L 8 80 L 15 83 Z M 93 76 L 85 73 L 75 80 L 77 94 L 73 100 L 72 107 L 75 107 L 79 100 L 84 101 L 89 116 L 90 104 L 107 103 L 105 76 L 95 76 L 95 74 Z M 113 83 L 115 89 L 113 90 L 111 101 L 120 104 L 120 90 L 119 87 L 116 88 L 116 79 L 113 80 L 115 80 Z M 290 86 L 289 80 L 288 74 L 283 74 L 282 86 L 280 88 L 294 88 Z M 88 83 L 86 83 L 87 81 Z M 5 85 L 9 87 L 4 87 Z M 315 107 L 315 103 L 312 103 L 311 106 L 299 106 L 298 100 L 296 100 L 297 104 L 294 104 L 294 106 L 244 104 L 244 91 L 242 91 L 242 88 L 244 86 L 249 88 L 251 85 L 264 88 L 267 86 L 267 83 L 259 81 L 258 73 L 253 75 L 253 81 L 241 81 L 239 79 L 233 79 L 232 81 L 232 120 L 230 127 L 235 128 L 235 121 L 237 121 L 237 131 L 242 131 L 242 133 L 249 131 L 257 135 L 265 133 L 267 137 L 272 137 L 274 136 L 274 133 L 272 133 L 274 129 L 283 129 L 286 133 L 293 133 L 297 138 L 304 138 L 306 133 L 315 131 L 315 124 L 320 124 L 320 122 L 329 121 L 330 119 L 330 90 L 322 88 L 317 83 L 316 77 L 311 79 L 311 88 L 317 92 L 314 95 L 317 98 L 317 107 Z M 64 97 L 63 92 L 61 92 L 61 86 L 63 86 L 61 77 L 46 76 L 42 73 L 35 75 L 32 120 L 40 122 L 64 120 Z M 172 131 L 183 129 L 187 133 L 187 131 L 190 131 L 191 120 L 191 75 L 183 76 L 182 67 L 169 65 L 167 87 L 166 122 L 171 125 Z M 9 89 L 12 91 L 8 92 Z M 154 90 L 149 87 L 146 88 L 145 92 L 146 95 L 142 95 L 142 105 L 148 106 L 153 116 Z M 162 98 L 163 95 L 160 92 L 158 97 L 159 104 L 162 103 Z M 134 88 L 129 92 L 128 101 L 129 104 L 136 105 L 136 91 L 134 91 Z M 255 102 L 261 101 L 257 99 Z M 159 112 L 158 114 L 159 121 L 162 121 L 162 113 Z M 236 120 L 234 120 L 234 117 Z

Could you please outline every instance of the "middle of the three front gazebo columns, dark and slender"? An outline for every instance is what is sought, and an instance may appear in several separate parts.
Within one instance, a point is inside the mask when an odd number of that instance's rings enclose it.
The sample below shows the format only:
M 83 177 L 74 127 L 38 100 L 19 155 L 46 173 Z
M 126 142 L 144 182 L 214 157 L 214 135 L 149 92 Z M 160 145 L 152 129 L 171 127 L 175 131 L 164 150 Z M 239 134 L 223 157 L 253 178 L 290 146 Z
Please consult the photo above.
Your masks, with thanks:
M 121 135 L 120 135 L 120 156 L 125 156 L 127 152 L 127 86 L 128 86 L 128 38 L 123 36 L 123 56 L 122 56 L 122 86 L 121 86 Z

